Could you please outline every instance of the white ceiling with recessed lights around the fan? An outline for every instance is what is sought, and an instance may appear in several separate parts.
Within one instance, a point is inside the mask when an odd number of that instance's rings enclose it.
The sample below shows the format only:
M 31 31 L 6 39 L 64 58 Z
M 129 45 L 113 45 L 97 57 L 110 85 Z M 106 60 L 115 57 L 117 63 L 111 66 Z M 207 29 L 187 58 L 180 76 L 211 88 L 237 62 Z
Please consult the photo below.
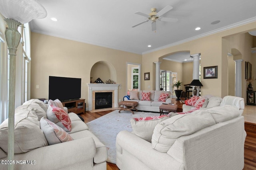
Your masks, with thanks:
M 256 21 L 256 0 L 38 0 L 48 16 L 30 22 L 33 32 L 112 49 L 145 54 L 188 40 Z M 157 12 L 170 5 L 162 17 L 178 22 L 151 22 L 134 14 Z M 54 22 L 50 18 L 55 17 Z M 213 21 L 220 20 L 217 24 Z M 195 31 L 196 27 L 201 27 Z M 152 47 L 147 47 L 152 45 Z M 188 56 L 189 57 L 189 56 Z M 179 57 L 178 57 L 179 59 Z

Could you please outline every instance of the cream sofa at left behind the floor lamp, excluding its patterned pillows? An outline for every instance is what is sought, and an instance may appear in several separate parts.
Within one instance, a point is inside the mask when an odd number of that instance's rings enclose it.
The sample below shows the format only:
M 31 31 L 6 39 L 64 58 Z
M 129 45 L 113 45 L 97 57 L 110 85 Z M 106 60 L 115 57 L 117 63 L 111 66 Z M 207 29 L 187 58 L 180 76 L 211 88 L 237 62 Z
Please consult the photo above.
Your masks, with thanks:
M 46 116 L 46 111 L 44 102 L 37 99 L 15 109 L 15 170 L 106 170 L 105 145 L 75 113 L 68 113 L 72 128 L 68 134 L 73 140 L 48 145 L 40 129 L 40 119 Z M 0 125 L 1 161 L 8 160 L 7 131 L 8 119 Z M 28 164 L 17 164 L 16 160 L 27 160 Z M 0 164 L 1 170 L 7 170 L 7 167 L 7 164 Z

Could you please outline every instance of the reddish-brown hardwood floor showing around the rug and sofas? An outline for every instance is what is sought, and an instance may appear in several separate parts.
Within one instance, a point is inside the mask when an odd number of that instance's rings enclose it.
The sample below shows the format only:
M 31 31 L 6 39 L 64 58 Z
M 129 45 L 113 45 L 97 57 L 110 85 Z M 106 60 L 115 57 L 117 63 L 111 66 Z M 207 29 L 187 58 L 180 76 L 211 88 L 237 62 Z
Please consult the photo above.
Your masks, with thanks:
M 256 107 L 255 107 L 256 109 Z M 84 122 L 87 123 L 94 119 L 97 119 L 103 115 L 106 115 L 114 110 L 100 111 L 91 113 L 86 111 L 85 114 L 79 114 L 84 118 Z M 246 109 L 244 110 L 246 111 Z M 254 112 L 256 113 L 256 111 Z M 244 144 L 244 168 L 243 170 L 256 170 L 256 122 L 245 122 L 245 130 L 247 133 Z M 107 163 L 107 170 L 119 170 L 116 164 Z

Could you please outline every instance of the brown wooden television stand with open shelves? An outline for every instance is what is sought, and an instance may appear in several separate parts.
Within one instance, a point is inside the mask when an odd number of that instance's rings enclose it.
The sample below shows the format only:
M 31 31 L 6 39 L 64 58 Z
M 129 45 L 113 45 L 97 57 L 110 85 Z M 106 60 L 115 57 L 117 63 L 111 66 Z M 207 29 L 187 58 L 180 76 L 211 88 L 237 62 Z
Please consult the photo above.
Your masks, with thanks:
M 63 107 L 68 107 L 68 113 L 74 112 L 76 114 L 85 113 L 86 103 L 85 99 L 62 102 Z

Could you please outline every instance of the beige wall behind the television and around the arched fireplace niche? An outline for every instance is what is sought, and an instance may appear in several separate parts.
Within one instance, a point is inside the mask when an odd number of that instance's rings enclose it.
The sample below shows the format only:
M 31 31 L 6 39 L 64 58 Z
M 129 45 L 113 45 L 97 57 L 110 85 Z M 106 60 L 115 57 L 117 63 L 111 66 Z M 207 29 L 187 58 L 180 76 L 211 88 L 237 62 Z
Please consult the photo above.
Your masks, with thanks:
M 90 83 L 92 66 L 104 61 L 116 70 L 116 78 L 110 77 L 121 84 L 118 100 L 122 100 L 126 94 L 126 62 L 142 63 L 142 57 L 138 54 L 33 32 L 31 49 L 31 98 L 48 98 L 48 77 L 64 76 L 82 78 L 81 98 L 88 100 L 87 83 Z M 106 81 L 109 78 L 104 76 L 102 79 Z M 39 89 L 36 89 L 36 85 L 39 85 Z

